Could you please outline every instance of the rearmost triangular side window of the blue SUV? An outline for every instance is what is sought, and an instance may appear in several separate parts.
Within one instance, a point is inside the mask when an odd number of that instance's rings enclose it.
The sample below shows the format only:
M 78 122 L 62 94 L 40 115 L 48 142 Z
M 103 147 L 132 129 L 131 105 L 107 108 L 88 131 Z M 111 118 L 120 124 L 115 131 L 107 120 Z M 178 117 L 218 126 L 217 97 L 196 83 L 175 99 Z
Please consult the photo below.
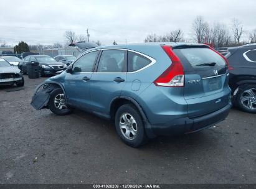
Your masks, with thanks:
M 133 72 L 146 67 L 151 63 L 148 58 L 135 52 L 128 52 L 128 72 Z

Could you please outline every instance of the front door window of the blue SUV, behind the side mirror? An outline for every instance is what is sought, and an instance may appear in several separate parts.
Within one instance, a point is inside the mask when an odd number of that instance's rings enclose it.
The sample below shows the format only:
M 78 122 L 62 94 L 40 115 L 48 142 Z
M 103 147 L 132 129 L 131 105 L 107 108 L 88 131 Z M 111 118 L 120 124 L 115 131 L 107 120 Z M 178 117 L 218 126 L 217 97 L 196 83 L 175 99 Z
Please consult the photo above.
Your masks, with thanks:
M 73 63 L 73 72 L 92 72 L 93 64 L 97 58 L 98 51 L 89 52 Z

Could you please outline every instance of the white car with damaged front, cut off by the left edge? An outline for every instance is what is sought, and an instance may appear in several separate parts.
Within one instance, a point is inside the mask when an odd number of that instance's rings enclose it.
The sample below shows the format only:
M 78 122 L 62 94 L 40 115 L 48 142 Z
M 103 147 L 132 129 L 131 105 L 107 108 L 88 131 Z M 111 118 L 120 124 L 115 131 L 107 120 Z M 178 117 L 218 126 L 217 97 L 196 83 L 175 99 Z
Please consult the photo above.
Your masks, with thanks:
M 24 86 L 24 78 L 20 73 L 21 70 L 13 67 L 9 62 L 0 57 L 0 85 Z

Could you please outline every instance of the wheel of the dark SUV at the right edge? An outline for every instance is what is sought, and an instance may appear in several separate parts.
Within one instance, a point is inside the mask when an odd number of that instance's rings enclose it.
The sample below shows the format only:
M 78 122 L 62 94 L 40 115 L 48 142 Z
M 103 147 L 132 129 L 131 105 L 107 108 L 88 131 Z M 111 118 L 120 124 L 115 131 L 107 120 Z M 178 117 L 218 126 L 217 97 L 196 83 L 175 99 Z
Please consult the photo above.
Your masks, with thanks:
M 242 111 L 256 113 L 256 84 L 239 86 L 235 95 L 235 104 Z

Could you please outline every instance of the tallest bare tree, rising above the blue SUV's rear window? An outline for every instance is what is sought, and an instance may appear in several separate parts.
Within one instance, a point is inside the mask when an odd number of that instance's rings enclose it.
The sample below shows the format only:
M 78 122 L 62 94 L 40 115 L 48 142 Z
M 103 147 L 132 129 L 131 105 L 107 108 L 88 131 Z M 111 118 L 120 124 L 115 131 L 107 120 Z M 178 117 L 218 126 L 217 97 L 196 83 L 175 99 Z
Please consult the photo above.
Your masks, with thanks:
M 202 16 L 197 16 L 192 23 L 192 35 L 194 40 L 202 44 L 206 40 L 207 34 L 209 34 L 209 24 L 204 21 Z

